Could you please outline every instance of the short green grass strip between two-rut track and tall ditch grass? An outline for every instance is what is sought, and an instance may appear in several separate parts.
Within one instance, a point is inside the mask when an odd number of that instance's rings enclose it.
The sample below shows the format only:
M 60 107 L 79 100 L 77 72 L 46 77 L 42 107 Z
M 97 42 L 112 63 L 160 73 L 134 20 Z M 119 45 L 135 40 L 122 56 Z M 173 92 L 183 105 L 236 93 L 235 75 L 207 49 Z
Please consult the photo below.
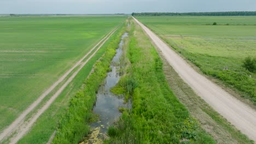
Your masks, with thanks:
M 57 129 L 60 118 L 66 113 L 70 98 L 79 91 L 81 86 L 85 84 L 85 79 L 90 74 L 91 69 L 98 59 L 106 52 L 107 46 L 115 34 L 107 41 L 106 44 L 96 53 L 94 57 L 85 65 L 85 67 L 78 73 L 75 79 L 69 83 L 60 96 L 55 100 L 53 105 L 38 119 L 34 124 L 31 131 L 25 135 L 18 143 L 46 143 L 49 141 L 50 136 Z

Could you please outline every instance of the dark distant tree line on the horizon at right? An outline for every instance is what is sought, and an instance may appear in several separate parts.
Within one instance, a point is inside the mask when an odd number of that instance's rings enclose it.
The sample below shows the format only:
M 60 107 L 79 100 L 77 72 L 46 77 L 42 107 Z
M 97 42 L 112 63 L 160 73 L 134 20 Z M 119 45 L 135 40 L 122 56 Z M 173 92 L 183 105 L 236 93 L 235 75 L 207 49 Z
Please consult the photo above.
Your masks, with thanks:
M 253 16 L 256 11 L 226 11 L 200 13 L 132 13 L 132 16 Z

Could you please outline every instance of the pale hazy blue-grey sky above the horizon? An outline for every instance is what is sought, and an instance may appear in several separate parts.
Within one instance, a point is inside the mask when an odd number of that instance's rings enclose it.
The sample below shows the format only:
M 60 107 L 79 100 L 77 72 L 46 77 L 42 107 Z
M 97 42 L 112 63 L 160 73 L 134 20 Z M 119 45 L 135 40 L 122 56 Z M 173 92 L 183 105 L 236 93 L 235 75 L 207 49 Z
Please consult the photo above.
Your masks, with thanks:
M 256 11 L 256 0 L 0 0 L 0 14 Z

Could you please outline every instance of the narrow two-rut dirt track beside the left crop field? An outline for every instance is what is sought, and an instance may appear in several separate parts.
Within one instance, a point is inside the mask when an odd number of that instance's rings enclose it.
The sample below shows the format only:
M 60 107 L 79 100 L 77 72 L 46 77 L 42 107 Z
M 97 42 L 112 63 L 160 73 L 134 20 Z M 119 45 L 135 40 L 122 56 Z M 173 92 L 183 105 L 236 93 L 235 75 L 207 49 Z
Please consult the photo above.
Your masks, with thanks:
M 78 72 L 80 71 L 80 69 L 82 69 L 84 67 L 84 65 L 95 55 L 95 53 L 101 48 L 101 46 L 109 39 L 109 37 L 117 30 L 114 29 L 112 32 L 110 32 L 109 34 L 106 35 L 106 37 L 104 37 L 99 43 L 97 43 L 95 45 L 95 47 L 93 47 L 88 53 L 86 53 L 86 55 L 81 58 L 77 63 L 75 63 L 73 65 L 73 67 L 71 69 L 69 69 L 63 76 L 60 77 L 59 80 L 57 80 L 54 85 L 52 85 L 50 88 L 48 88 L 42 95 L 40 95 L 40 97 L 34 101 L 33 104 L 31 104 L 28 109 L 26 109 L 24 112 L 21 113 L 21 115 L 15 119 L 15 121 L 13 123 L 11 123 L 11 125 L 9 125 L 9 127 L 7 127 L 6 129 L 3 130 L 3 132 L 0 134 L 0 142 L 4 139 L 6 139 L 8 136 L 10 136 L 11 134 L 13 134 L 14 132 L 16 132 L 15 136 L 13 136 L 14 138 L 11 139 L 11 143 L 16 143 L 19 139 L 21 139 L 21 137 L 23 135 L 25 135 L 27 133 L 27 131 L 32 127 L 33 123 L 36 122 L 37 118 L 46 110 L 48 109 L 48 107 L 51 105 L 51 103 L 53 103 L 53 101 L 59 96 L 59 94 L 63 91 L 63 89 L 65 89 L 65 87 L 68 85 L 69 82 L 71 82 L 74 77 L 78 74 Z M 102 42 L 103 41 L 103 42 Z M 101 45 L 100 45 L 101 44 Z M 100 45 L 100 46 L 98 46 Z M 96 47 L 98 46 L 98 48 L 96 49 Z M 96 50 L 95 50 L 96 49 Z M 92 51 L 94 51 L 94 53 L 92 53 L 92 55 L 86 59 L 85 62 L 83 62 L 83 60 L 88 57 L 88 55 L 90 55 L 90 53 Z M 61 83 L 63 80 L 66 79 L 66 77 L 68 76 L 68 74 L 70 74 L 72 72 L 72 70 L 74 70 L 76 67 L 78 67 L 78 65 L 80 65 L 79 69 L 76 70 L 71 77 L 69 77 L 69 79 L 58 89 L 58 91 L 45 103 L 45 105 L 40 108 L 38 110 L 38 112 L 36 114 L 34 114 L 27 122 L 24 122 L 24 118 L 28 115 L 28 113 L 30 113 L 36 106 L 38 106 L 40 104 L 40 102 L 46 97 L 46 95 L 48 95 L 51 91 L 53 91 L 53 89 L 59 85 L 59 83 Z

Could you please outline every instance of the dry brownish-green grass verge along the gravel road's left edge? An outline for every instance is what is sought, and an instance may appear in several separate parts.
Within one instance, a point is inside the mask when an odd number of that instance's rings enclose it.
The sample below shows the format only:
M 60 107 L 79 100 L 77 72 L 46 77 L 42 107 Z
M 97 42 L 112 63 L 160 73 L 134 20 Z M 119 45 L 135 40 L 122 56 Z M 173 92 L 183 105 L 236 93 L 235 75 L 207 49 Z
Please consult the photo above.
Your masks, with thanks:
M 217 143 L 253 143 L 248 137 L 237 130 L 225 118 L 214 111 L 185 83 L 176 71 L 168 64 L 161 51 L 157 49 L 164 67 L 166 79 L 173 93 L 187 107 L 191 116 L 199 121 L 201 127 L 209 133 Z

